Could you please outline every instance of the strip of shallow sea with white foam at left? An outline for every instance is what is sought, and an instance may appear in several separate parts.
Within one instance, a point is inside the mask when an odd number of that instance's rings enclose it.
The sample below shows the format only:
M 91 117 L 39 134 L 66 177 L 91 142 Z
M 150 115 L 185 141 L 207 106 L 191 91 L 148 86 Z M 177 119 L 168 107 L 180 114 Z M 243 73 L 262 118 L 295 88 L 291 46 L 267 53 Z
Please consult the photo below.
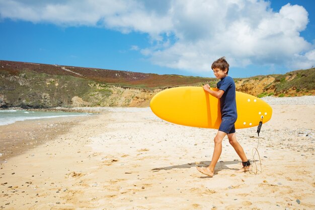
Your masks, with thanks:
M 61 112 L 61 111 L 29 111 L 29 110 L 0 110 L 0 125 L 15 123 L 29 119 L 42 119 L 54 117 L 86 116 L 91 113 Z

